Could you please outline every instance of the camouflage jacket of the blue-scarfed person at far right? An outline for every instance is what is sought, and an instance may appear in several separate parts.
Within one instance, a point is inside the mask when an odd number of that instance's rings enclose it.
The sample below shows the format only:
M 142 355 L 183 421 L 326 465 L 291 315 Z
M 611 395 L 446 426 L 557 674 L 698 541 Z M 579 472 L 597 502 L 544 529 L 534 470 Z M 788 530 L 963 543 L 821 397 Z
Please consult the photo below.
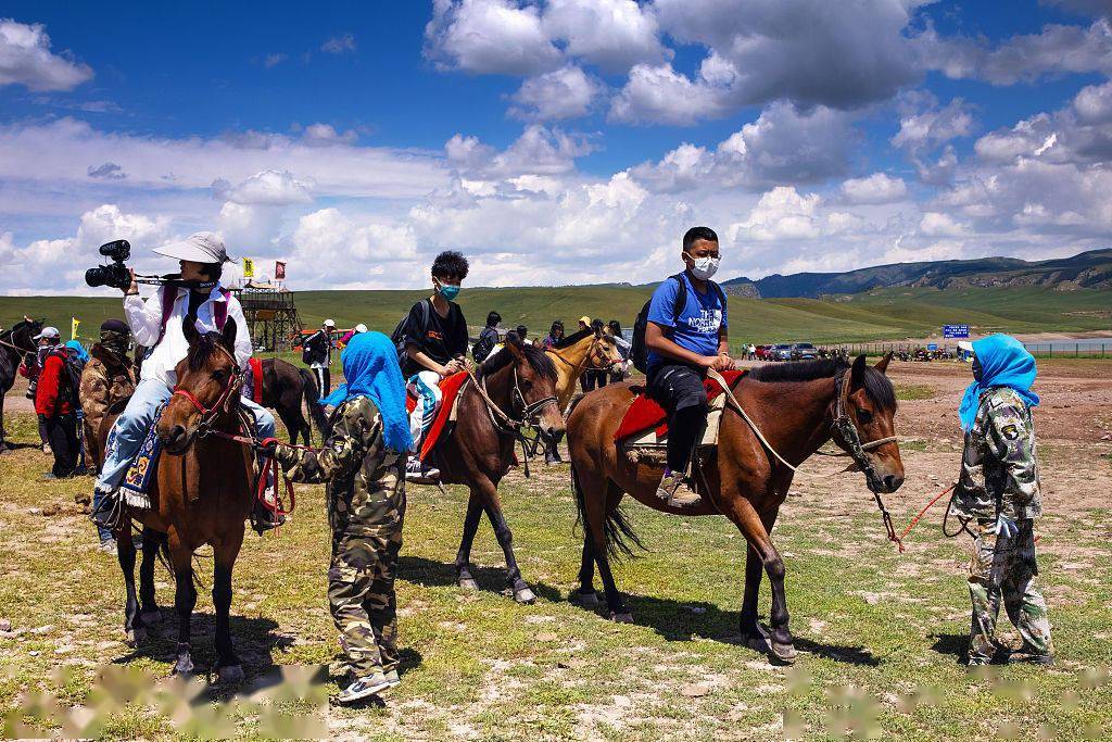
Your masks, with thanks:
M 1012 389 L 993 387 L 981 395 L 973 429 L 965 434 L 954 512 L 969 518 L 1039 517 L 1040 489 L 1031 408 Z

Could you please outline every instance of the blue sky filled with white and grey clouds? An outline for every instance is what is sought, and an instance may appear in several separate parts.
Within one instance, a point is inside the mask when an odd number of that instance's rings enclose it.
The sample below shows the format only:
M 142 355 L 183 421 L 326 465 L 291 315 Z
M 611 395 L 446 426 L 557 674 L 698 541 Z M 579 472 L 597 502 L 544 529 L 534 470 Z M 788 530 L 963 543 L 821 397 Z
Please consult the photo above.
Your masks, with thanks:
M 0 291 L 201 228 L 306 288 L 1105 245 L 1109 4 L 8 2 Z

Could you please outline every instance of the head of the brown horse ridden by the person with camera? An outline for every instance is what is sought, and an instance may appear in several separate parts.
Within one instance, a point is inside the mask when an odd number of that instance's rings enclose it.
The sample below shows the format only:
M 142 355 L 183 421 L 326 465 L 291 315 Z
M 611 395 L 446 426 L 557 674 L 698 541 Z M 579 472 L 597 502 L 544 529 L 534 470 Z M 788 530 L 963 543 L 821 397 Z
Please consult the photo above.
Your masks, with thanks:
M 178 385 L 158 421 L 158 437 L 171 454 L 183 453 L 197 432 L 209 427 L 239 403 L 239 366 L 236 363 L 236 320 L 222 333 L 201 335 L 191 321 L 182 329 L 189 353 L 178 362 Z

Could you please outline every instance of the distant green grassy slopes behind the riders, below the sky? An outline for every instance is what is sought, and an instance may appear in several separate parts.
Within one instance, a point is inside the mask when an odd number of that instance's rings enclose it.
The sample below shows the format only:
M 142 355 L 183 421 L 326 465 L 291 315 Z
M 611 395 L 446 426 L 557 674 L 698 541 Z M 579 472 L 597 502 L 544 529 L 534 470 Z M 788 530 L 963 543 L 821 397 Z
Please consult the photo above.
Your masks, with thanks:
M 582 315 L 625 326 L 648 298 L 646 286 L 569 286 L 466 288 L 460 305 L 473 325 L 497 309 L 506 326 L 525 324 L 530 334 L 547 332 L 553 319 L 575 326 Z M 326 317 L 341 327 L 366 323 L 390 332 L 424 291 L 300 291 L 297 306 L 306 326 Z M 729 304 L 731 337 L 736 342 L 858 343 L 924 337 L 943 324 L 965 323 L 976 330 L 1009 333 L 1108 330 L 1112 291 L 1048 288 L 883 289 L 831 299 L 746 299 Z M 106 317 L 120 315 L 120 300 L 91 297 L 0 297 L 0 326 L 23 314 L 47 317 L 68 332 L 71 316 L 95 334 Z

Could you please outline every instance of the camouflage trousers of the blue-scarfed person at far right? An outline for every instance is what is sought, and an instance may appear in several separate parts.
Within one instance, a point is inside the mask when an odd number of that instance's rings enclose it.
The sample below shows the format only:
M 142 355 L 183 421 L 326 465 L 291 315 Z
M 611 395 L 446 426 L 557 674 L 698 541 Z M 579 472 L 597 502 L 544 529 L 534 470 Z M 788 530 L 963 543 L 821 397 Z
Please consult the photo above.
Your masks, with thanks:
M 1039 568 L 1033 525 L 1031 520 L 1019 521 L 1020 532 L 1007 538 L 992 533 L 993 522 L 980 522 L 970 564 L 971 661 L 989 661 L 996 651 L 993 637 L 1001 600 L 1007 619 L 1023 639 L 1022 651 L 1031 654 L 1053 652 L 1046 601 L 1035 580 Z

